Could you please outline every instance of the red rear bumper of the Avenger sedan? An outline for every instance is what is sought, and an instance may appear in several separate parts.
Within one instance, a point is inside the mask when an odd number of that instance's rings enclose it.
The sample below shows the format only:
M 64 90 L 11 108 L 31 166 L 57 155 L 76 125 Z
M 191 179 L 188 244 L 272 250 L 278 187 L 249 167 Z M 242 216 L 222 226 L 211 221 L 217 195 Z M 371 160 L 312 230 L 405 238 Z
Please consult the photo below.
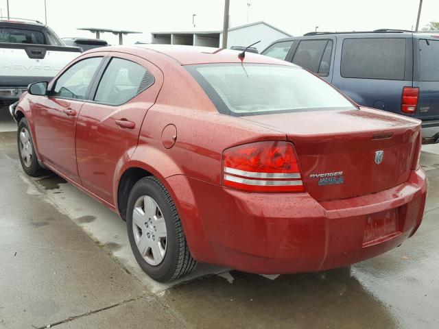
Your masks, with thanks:
M 193 257 L 254 273 L 319 271 L 383 254 L 417 230 L 427 195 L 421 169 L 386 191 L 329 202 L 307 193 L 244 193 L 183 175 L 167 184 Z M 385 211 L 397 214 L 397 232 L 365 243 L 368 218 Z

